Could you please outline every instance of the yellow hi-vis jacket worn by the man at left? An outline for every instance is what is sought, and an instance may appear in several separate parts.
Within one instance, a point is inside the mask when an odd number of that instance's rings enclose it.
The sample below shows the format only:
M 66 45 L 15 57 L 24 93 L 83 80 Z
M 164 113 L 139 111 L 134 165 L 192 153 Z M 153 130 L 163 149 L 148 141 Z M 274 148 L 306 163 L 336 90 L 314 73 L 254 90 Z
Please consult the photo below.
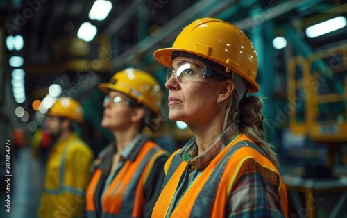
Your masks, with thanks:
M 38 217 L 81 216 L 93 159 L 92 149 L 74 134 L 52 146 Z

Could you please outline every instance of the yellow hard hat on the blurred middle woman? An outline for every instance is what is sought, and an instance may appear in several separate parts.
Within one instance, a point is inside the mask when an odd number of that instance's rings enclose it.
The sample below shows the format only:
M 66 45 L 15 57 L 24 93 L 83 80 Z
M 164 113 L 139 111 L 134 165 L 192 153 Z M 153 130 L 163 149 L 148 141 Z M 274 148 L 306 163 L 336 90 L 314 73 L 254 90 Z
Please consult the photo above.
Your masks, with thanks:
M 159 83 L 149 73 L 139 69 L 127 68 L 116 72 L 109 83 L 100 83 L 101 91 L 115 90 L 126 94 L 139 104 L 158 113 L 162 103 L 162 90 Z

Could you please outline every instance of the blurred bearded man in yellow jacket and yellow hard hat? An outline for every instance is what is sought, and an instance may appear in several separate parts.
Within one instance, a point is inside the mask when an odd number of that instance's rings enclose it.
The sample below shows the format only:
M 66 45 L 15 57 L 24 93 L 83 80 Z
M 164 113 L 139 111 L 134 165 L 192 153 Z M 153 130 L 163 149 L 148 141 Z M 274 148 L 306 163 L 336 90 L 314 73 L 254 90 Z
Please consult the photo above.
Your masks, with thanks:
M 94 156 L 74 130 L 83 122 L 80 104 L 60 97 L 47 112 L 46 130 L 52 138 L 46 164 L 44 193 L 38 217 L 80 217 Z

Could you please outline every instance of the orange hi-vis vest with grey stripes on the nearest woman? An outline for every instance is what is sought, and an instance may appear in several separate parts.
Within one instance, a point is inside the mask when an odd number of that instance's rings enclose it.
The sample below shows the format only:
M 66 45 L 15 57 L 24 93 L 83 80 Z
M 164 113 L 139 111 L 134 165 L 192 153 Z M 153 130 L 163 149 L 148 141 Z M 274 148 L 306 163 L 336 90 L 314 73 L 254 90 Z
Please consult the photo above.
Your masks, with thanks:
M 180 199 L 174 199 L 174 195 L 181 191 L 177 189 L 181 183 L 185 183 L 183 177 L 189 171 L 189 165 L 181 160 L 178 152 L 174 153 L 167 161 L 167 176 L 164 179 L 162 192 L 155 203 L 152 217 L 228 217 L 226 214 L 227 204 L 237 203 L 228 202 L 228 199 L 233 194 L 234 182 L 239 178 L 239 171 L 246 161 L 254 162 L 256 165 L 254 169 L 249 170 L 260 169 L 260 174 L 269 171 L 276 172 L 275 176 L 271 177 L 271 181 L 266 181 L 266 184 L 271 184 L 269 188 L 275 186 L 273 189 L 278 196 L 276 204 L 280 203 L 279 207 L 287 216 L 287 193 L 280 173 L 264 156 L 264 152 L 253 144 L 246 135 L 242 135 L 214 157 L 200 176 L 196 177 L 185 189 Z M 247 197 L 242 196 L 242 193 L 238 194 L 241 194 L 241 198 Z M 171 201 L 176 201 L 176 207 L 168 215 Z M 262 215 L 258 216 L 262 217 Z

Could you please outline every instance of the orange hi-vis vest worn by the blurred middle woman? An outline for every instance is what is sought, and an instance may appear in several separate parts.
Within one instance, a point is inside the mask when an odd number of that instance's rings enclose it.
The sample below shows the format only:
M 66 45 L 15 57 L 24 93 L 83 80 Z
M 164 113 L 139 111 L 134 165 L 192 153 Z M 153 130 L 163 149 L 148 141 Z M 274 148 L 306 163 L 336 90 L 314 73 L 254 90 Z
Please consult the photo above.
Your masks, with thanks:
M 135 160 L 124 163 L 104 192 L 101 202 L 102 215 L 96 214 L 94 201 L 95 190 L 103 174 L 103 171 L 97 168 L 87 187 L 85 207 L 87 217 L 143 217 L 144 186 L 155 160 L 160 156 L 167 156 L 167 151 L 160 149 L 154 142 L 147 141 Z

